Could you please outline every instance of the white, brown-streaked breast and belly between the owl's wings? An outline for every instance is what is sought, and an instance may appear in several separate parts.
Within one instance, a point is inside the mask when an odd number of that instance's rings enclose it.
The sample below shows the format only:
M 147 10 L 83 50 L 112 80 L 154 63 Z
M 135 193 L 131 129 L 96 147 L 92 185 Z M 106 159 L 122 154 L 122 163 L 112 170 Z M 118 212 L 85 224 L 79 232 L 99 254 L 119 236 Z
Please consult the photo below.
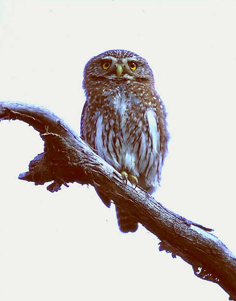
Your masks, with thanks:
M 155 112 L 121 91 L 103 99 L 96 122 L 95 148 L 118 171 L 127 171 L 155 186 L 158 182 L 160 133 Z

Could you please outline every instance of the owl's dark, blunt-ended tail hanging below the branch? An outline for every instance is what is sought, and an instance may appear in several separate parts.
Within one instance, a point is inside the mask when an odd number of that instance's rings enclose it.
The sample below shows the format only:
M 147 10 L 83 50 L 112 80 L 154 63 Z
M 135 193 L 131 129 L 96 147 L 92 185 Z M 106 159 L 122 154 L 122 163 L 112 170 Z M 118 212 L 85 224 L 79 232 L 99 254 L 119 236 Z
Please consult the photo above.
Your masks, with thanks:
M 138 222 L 132 219 L 132 217 L 127 213 L 127 211 L 116 206 L 117 211 L 117 221 L 121 232 L 135 232 L 138 228 Z

